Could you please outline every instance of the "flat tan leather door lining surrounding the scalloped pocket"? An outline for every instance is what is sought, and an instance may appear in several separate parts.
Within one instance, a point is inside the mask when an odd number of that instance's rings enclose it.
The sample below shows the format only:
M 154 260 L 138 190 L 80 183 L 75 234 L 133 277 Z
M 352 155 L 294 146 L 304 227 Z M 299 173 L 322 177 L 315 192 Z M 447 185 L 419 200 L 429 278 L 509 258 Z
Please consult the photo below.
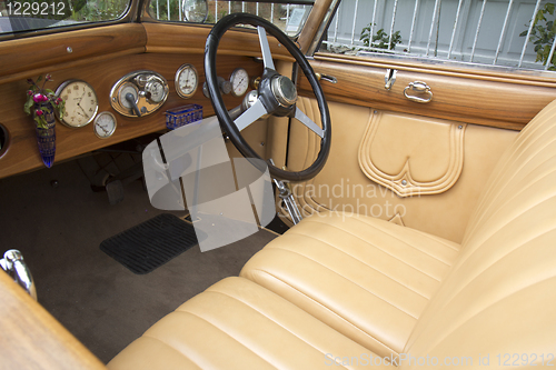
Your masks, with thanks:
M 308 106 L 306 112 L 312 111 L 314 116 L 310 117 L 317 122 L 316 101 L 304 98 L 304 103 Z M 373 216 L 455 242 L 461 241 L 480 190 L 495 163 L 517 134 L 514 130 L 467 124 L 464 166 L 454 186 L 438 194 L 401 198 L 367 178 L 359 166 L 359 147 L 367 126 L 373 116 L 381 111 L 338 102 L 328 102 L 328 107 L 334 132 L 328 161 L 312 180 L 292 184 L 304 214 L 332 210 Z M 411 120 L 420 120 L 423 124 L 430 121 L 416 114 L 411 116 Z M 389 140 L 391 148 L 398 144 L 396 136 Z M 388 147 L 385 143 L 385 148 Z M 312 132 L 300 124 L 291 124 L 288 168 L 296 170 L 306 167 L 318 150 L 318 141 Z M 284 209 L 280 212 L 287 217 Z

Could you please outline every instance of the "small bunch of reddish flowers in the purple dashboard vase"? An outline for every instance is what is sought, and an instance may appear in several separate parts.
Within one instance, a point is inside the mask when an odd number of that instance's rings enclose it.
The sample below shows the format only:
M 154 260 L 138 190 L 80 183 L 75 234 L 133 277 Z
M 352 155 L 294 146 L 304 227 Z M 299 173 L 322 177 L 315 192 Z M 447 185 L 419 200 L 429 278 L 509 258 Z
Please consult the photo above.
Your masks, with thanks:
M 52 113 L 52 110 L 56 110 L 60 118 L 66 113 L 66 102 L 63 99 L 56 96 L 56 93 L 46 89 L 44 86 L 48 81 L 51 81 L 52 77 L 47 74 L 44 77 L 44 81 L 42 86 L 39 87 L 39 83 L 42 81 L 42 76 L 39 76 L 37 81 L 32 79 L 28 79 L 27 82 L 31 86 L 29 90 L 27 90 L 27 101 L 23 106 L 23 111 L 27 114 L 34 113 L 34 122 L 39 128 L 47 128 L 47 118 L 46 116 Z M 31 108 L 34 107 L 34 110 Z

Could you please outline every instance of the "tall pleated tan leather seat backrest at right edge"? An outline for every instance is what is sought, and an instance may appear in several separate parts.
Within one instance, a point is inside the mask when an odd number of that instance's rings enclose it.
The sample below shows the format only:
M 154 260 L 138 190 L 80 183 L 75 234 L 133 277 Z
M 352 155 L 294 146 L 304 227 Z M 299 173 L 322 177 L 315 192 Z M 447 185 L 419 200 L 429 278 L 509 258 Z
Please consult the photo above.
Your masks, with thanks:
M 401 367 L 556 366 L 556 101 L 502 157 L 461 247 Z

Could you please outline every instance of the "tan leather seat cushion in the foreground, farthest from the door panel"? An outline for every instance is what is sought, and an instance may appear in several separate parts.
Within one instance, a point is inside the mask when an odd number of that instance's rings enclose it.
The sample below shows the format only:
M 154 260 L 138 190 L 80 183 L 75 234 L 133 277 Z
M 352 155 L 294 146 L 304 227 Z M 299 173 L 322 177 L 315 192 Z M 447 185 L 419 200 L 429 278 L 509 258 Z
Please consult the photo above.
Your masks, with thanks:
M 375 359 L 267 289 L 228 278 L 161 319 L 108 368 L 363 369 Z

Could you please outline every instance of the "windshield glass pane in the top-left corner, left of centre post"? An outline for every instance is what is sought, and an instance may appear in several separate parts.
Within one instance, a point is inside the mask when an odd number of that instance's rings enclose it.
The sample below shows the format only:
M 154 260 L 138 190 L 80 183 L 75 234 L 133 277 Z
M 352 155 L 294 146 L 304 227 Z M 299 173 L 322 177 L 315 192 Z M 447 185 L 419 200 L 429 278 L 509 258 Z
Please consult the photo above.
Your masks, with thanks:
M 6 0 L 0 2 L 0 33 L 117 20 L 130 0 Z

